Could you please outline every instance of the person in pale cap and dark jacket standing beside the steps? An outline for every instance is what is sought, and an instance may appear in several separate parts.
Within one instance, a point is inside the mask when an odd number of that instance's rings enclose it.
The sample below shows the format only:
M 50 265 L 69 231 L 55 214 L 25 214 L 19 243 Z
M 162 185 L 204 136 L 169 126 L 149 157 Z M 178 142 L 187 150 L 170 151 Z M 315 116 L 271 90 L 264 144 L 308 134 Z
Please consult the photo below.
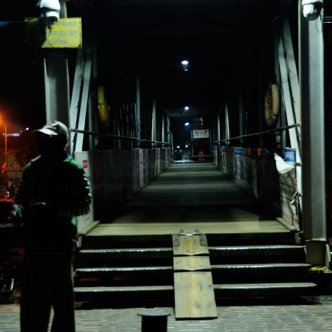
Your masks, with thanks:
M 68 128 L 59 121 L 33 131 L 40 155 L 24 168 L 12 218 L 24 226 L 21 331 L 75 331 L 73 253 L 76 218 L 89 212 L 90 185 L 66 151 Z M 38 291 L 38 295 L 36 294 Z

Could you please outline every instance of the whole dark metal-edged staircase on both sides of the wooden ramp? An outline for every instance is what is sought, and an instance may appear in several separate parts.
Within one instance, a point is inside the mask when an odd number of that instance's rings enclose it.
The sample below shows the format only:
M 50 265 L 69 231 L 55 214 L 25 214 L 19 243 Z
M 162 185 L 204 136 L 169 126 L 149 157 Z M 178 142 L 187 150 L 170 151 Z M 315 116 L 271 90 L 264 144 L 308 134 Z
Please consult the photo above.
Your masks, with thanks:
M 289 239 L 262 241 L 254 235 L 241 241 L 235 234 L 228 239 L 207 235 L 206 239 L 210 266 L 205 271 L 212 273 L 216 304 L 230 298 L 298 297 L 317 292 L 304 246 Z M 126 241 L 83 239 L 75 259 L 75 301 L 83 308 L 174 306 L 178 291 L 174 236 L 149 240 L 139 236 Z

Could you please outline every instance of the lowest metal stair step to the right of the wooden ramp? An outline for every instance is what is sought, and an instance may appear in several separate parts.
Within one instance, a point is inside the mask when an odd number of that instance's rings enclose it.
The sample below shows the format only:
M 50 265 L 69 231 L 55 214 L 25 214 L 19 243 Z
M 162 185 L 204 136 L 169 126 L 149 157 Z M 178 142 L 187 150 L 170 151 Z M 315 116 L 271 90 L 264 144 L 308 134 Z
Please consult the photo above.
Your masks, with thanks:
M 214 294 L 223 297 L 305 296 L 315 293 L 312 282 L 264 283 L 264 284 L 215 284 Z

